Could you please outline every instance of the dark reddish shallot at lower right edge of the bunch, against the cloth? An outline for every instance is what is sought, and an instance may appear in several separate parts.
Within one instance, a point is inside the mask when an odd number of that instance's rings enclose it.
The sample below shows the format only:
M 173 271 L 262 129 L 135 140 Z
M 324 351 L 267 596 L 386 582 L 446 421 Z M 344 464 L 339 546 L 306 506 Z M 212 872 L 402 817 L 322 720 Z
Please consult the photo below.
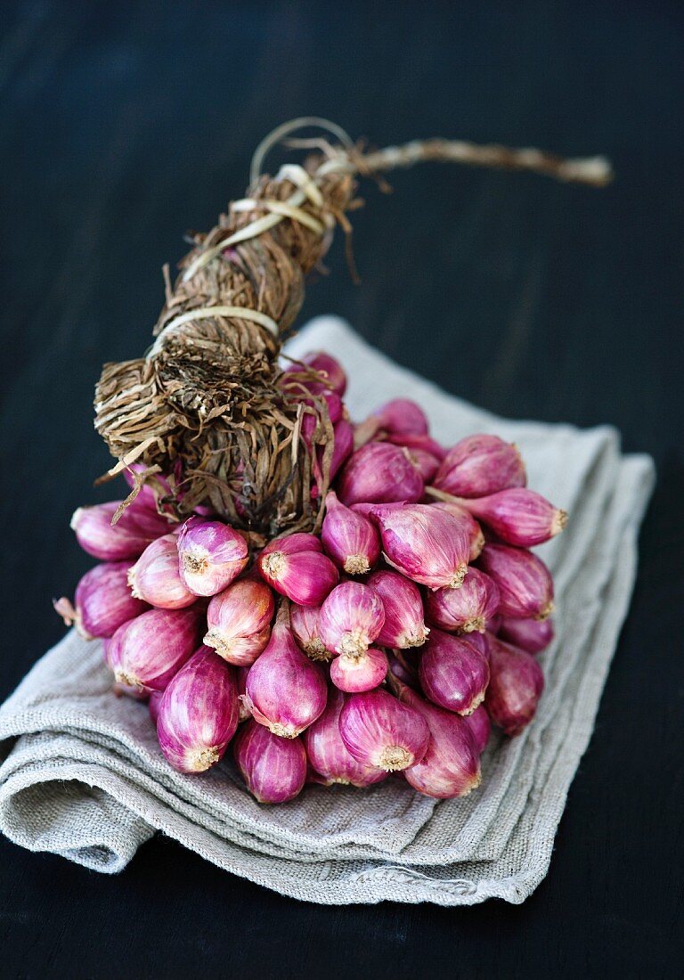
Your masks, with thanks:
M 530 723 L 544 690 L 541 666 L 526 650 L 489 637 L 491 678 L 485 707 L 506 735 L 519 735 Z

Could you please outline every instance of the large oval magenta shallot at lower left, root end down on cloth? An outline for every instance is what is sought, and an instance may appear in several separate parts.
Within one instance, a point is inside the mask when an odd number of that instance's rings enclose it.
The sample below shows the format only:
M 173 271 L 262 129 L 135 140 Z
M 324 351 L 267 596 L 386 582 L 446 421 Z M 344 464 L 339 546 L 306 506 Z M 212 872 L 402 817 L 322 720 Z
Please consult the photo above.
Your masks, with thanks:
M 233 668 L 201 647 L 171 678 L 159 706 L 157 736 L 179 772 L 204 772 L 222 758 L 238 723 Z

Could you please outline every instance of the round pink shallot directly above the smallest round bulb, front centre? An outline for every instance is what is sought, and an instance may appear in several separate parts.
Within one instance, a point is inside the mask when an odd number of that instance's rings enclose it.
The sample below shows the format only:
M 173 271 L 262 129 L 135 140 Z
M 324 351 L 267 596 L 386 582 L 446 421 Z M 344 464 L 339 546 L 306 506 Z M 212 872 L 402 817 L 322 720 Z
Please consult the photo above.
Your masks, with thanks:
M 361 582 L 342 582 L 320 608 L 320 638 L 336 654 L 361 657 L 384 621 L 382 600 L 376 592 Z

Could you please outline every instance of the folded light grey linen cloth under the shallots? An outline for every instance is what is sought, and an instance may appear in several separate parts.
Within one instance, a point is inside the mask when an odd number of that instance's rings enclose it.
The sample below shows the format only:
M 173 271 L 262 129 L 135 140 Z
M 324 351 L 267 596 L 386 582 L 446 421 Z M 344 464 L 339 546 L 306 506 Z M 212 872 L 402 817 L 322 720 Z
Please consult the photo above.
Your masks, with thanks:
M 546 690 L 533 723 L 494 738 L 481 787 L 437 803 L 401 780 L 368 790 L 310 786 L 264 807 L 230 760 L 175 772 L 143 705 L 112 695 L 102 646 L 73 631 L 0 708 L 0 830 L 32 851 L 121 871 L 161 830 L 220 867 L 283 895 L 328 905 L 520 903 L 545 876 L 567 789 L 586 749 L 636 573 L 639 524 L 654 482 L 646 456 L 621 456 L 614 429 L 511 421 L 399 368 L 339 319 L 310 323 L 288 345 L 323 348 L 350 376 L 364 417 L 414 398 L 436 439 L 472 432 L 515 442 L 530 485 L 570 512 L 539 549 L 555 575 L 557 638 L 540 656 Z

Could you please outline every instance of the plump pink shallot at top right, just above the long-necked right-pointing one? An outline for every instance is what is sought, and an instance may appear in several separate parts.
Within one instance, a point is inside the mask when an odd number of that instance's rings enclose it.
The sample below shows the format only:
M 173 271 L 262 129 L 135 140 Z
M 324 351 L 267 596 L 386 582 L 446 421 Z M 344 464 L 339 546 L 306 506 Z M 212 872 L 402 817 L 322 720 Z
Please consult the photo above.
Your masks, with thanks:
M 470 435 L 449 450 L 434 485 L 455 497 L 485 497 L 523 487 L 526 479 L 515 446 L 496 435 Z

